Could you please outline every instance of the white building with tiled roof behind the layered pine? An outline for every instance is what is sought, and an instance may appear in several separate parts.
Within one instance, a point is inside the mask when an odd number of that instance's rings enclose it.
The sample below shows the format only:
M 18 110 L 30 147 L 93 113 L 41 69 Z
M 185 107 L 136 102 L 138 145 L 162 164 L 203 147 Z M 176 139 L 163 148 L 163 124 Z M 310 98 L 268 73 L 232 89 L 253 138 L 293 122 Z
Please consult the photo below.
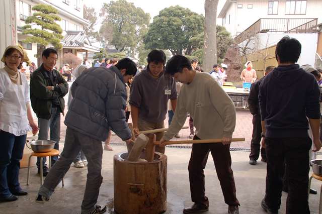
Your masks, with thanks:
M 84 34 L 84 26 L 89 25 L 89 21 L 83 18 L 83 0 L 1 0 L 3 5 L 11 5 L 12 13 L 15 11 L 15 16 L 9 15 L 11 21 L 15 22 L 16 39 L 13 39 L 12 44 L 21 44 L 32 62 L 37 64 L 37 44 L 23 43 L 28 35 L 22 34 L 22 27 L 25 25 L 25 20 L 33 14 L 32 7 L 37 4 L 46 4 L 58 10 L 58 16 L 61 21 L 58 22 L 63 30 L 64 38 L 61 41 L 63 48 L 59 51 L 57 66 L 62 65 L 62 56 L 64 53 L 71 52 L 82 60 L 88 56 L 90 52 L 100 52 L 100 48 L 94 47 L 89 38 Z M 1 2 L 0 2 L 1 3 Z M 1 6 L 1 5 L 0 5 Z M 8 8 L 9 6 L 7 6 Z M 0 7 L 1 8 L 1 7 Z M 6 15 L 6 13 L 4 13 Z M 7 18 L 8 19 L 8 18 Z M 11 24 L 11 23 L 9 23 Z M 35 26 L 36 27 L 36 26 Z M 8 31 L 9 32 L 9 31 Z M 7 37 L 10 37 L 7 33 Z M 1 37 L 0 37 L 1 38 Z M 2 39 L 1 39 L 2 40 Z M 16 40 L 16 41 L 14 41 Z M 50 47 L 50 45 L 48 46 Z M 1 48 L 1 50 L 4 50 Z

